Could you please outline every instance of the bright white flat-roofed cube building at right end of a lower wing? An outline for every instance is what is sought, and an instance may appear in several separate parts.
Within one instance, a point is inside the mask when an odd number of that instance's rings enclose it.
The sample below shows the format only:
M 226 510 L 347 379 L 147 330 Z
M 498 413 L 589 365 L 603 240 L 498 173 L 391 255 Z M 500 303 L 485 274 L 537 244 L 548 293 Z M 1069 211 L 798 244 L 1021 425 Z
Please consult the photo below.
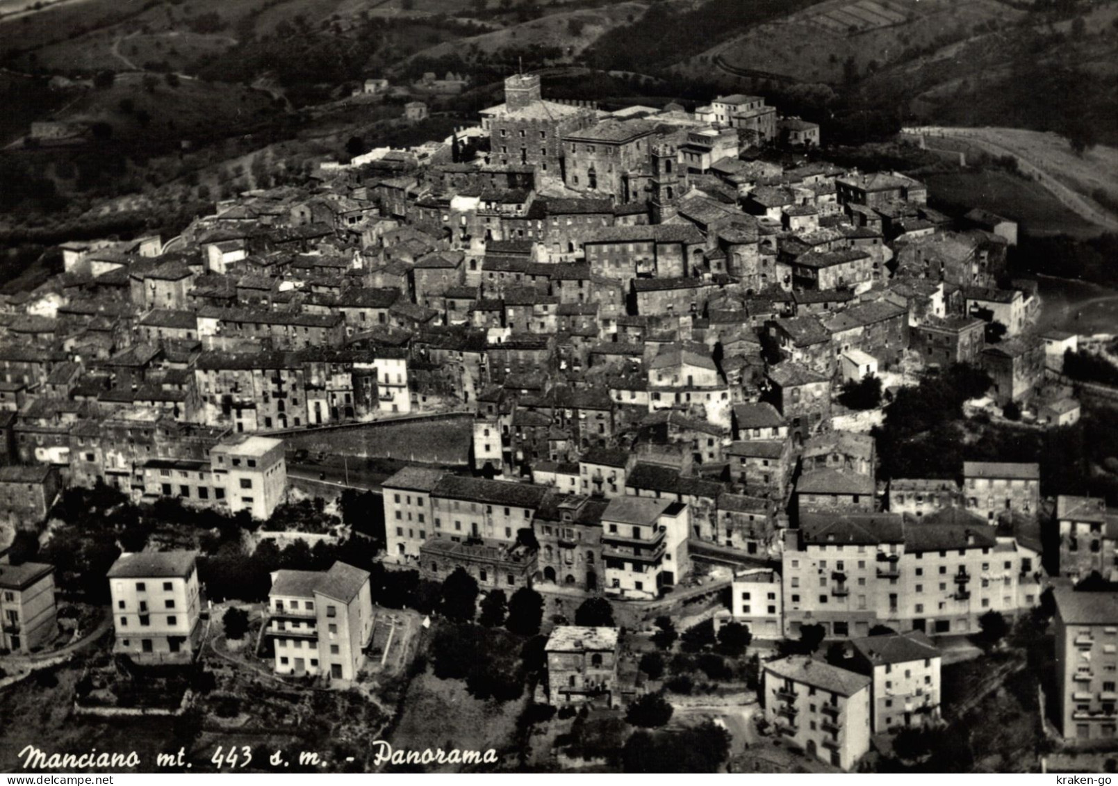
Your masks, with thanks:
M 267 520 L 287 492 L 283 439 L 233 435 L 210 449 L 210 471 L 230 513 Z

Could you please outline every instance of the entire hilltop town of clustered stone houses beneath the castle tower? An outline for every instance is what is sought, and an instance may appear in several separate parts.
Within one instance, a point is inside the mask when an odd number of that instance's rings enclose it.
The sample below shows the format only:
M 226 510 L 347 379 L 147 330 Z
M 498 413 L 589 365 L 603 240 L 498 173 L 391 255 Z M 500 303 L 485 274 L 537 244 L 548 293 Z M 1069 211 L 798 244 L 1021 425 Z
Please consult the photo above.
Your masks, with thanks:
M 0 749 L 1099 771 L 1112 337 L 765 98 L 543 92 L 3 299 Z

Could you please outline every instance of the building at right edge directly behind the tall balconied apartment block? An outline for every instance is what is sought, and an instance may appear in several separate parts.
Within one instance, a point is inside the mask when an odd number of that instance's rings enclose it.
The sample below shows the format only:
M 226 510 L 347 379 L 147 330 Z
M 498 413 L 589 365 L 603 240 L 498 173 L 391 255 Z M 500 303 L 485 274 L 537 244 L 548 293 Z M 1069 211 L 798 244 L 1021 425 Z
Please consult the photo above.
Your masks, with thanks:
M 1118 515 L 1107 513 L 1107 501 L 1091 496 L 1055 498 L 1060 530 L 1060 575 L 1071 579 L 1092 572 L 1107 580 L 1118 575 Z

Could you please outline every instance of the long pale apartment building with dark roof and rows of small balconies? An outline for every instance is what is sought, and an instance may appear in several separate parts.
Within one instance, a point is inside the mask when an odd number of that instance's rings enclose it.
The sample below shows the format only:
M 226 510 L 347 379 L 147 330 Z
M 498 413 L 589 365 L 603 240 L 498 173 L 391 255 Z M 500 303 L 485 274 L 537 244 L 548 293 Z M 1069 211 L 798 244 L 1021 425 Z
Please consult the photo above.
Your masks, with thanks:
M 874 625 L 928 634 L 974 633 L 995 610 L 1040 603 L 1040 553 L 965 511 L 923 519 L 896 513 L 803 513 L 785 533 L 785 634 L 823 625 L 866 636 Z

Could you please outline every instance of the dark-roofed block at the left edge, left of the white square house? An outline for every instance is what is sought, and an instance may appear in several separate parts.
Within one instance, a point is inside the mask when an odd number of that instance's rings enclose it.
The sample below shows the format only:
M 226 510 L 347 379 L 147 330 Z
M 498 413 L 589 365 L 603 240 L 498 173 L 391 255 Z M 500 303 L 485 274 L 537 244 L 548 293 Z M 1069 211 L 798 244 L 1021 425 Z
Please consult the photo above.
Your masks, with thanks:
M 57 633 L 54 566 L 0 562 L 0 648 L 26 654 Z

